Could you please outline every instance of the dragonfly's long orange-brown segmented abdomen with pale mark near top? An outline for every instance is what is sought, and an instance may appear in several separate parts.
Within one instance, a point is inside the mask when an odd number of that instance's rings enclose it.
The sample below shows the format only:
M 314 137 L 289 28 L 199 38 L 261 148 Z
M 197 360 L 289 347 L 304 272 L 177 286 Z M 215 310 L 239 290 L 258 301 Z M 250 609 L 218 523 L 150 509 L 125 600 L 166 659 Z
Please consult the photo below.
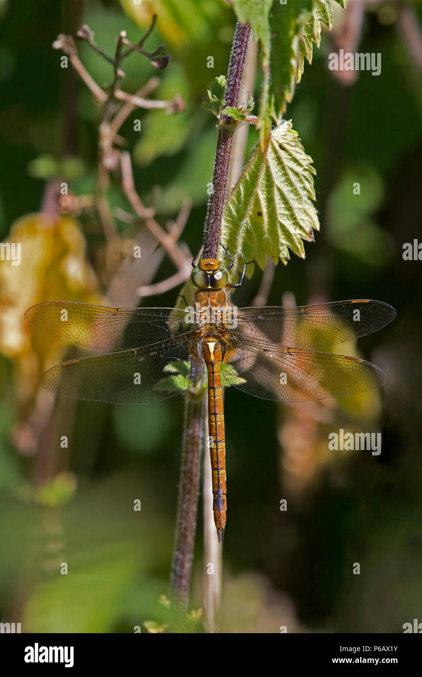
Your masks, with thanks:
M 213 478 L 213 512 L 218 540 L 226 527 L 226 436 L 224 433 L 223 390 L 221 388 L 221 343 L 212 336 L 203 340 L 202 356 L 208 372 L 208 429 Z

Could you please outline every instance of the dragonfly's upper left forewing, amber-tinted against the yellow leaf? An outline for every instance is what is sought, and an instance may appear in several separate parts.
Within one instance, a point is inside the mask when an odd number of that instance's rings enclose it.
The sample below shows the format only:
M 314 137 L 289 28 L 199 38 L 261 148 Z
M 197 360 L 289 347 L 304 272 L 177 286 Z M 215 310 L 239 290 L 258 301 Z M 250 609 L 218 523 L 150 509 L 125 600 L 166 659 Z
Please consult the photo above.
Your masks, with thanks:
M 173 308 L 51 301 L 29 308 L 25 318 L 45 334 L 102 350 L 139 348 L 192 330 L 192 324 L 184 324 L 184 311 Z

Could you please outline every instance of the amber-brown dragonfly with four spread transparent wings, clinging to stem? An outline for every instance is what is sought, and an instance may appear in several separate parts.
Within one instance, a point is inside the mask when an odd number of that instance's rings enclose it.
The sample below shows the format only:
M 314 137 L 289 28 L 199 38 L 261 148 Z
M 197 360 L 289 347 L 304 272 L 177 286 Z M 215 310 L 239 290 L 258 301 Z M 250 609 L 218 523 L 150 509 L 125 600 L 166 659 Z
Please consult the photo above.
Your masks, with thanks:
M 226 252 L 228 255 L 228 253 Z M 230 255 L 228 255 L 230 259 Z M 25 318 L 43 332 L 108 351 L 70 359 L 40 379 L 45 389 L 77 399 L 141 404 L 207 389 L 213 516 L 218 541 L 227 513 L 223 387 L 282 402 L 355 395 L 383 385 L 384 372 L 364 359 L 339 355 L 336 345 L 371 334 L 396 317 L 369 299 L 301 307 L 230 303 L 229 270 L 201 259 L 191 281 L 194 305 L 113 308 L 51 301 Z

